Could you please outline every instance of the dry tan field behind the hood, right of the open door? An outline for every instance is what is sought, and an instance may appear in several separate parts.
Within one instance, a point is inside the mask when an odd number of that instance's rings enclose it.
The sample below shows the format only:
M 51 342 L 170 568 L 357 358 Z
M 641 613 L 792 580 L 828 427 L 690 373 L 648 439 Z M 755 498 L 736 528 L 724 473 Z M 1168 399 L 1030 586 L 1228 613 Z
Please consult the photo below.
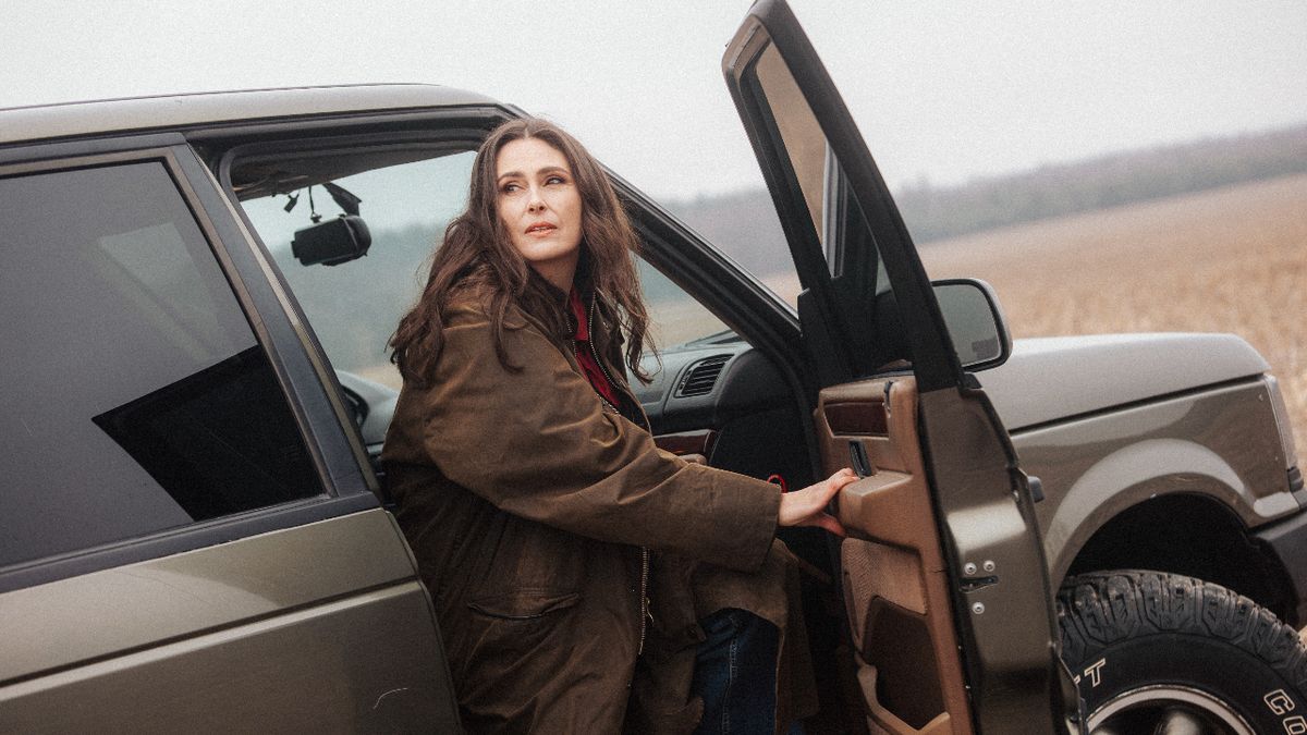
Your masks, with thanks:
M 1307 458 L 1307 175 L 989 230 L 920 252 L 932 279 L 989 281 L 1014 337 L 1247 339 L 1280 378 Z

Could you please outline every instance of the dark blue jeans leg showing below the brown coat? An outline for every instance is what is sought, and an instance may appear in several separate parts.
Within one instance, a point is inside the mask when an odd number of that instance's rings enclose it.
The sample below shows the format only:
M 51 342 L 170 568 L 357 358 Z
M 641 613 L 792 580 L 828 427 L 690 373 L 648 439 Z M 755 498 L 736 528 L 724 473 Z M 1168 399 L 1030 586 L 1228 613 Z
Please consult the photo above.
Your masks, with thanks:
M 719 609 L 699 621 L 690 693 L 703 698 L 697 734 L 775 732 L 776 626 L 752 612 Z M 801 734 L 797 722 L 789 730 Z

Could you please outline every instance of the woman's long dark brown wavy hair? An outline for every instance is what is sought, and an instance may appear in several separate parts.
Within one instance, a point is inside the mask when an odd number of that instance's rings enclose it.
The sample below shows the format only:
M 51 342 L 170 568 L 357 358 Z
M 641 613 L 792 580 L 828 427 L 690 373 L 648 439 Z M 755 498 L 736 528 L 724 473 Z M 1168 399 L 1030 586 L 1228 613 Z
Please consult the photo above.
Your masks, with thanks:
M 647 333 L 648 313 L 633 260 L 639 238 L 595 157 L 562 128 L 538 118 L 503 123 L 477 149 L 468 208 L 444 229 L 426 288 L 391 336 L 391 362 L 405 381 L 422 385 L 431 374 L 444 341 L 444 310 L 451 303 L 450 297 L 463 289 L 485 289 L 491 294 L 489 306 L 495 354 L 508 370 L 520 370 L 511 364 L 503 348 L 505 318 L 510 305 L 535 316 L 555 335 L 569 333 L 567 294 L 537 273 L 518 252 L 497 208 L 499 150 L 508 143 L 532 137 L 563 154 L 580 192 L 582 254 L 576 288 L 583 293 L 593 290 L 603 294 L 605 316 L 616 324 L 617 336 L 626 343 L 626 366 L 640 382 L 650 381 L 648 373 L 639 365 L 642 350 L 652 349 Z M 596 348 L 608 347 L 597 341 L 606 341 L 606 335 L 592 339 L 596 339 Z

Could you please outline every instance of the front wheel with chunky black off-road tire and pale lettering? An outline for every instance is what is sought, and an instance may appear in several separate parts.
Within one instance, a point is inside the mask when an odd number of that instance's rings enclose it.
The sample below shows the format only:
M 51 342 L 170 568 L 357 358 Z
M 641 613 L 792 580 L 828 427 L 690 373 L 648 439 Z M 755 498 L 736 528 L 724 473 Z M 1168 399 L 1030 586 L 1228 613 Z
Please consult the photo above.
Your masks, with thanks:
M 1307 734 L 1307 649 L 1231 590 L 1161 572 L 1070 577 L 1063 660 L 1098 735 Z

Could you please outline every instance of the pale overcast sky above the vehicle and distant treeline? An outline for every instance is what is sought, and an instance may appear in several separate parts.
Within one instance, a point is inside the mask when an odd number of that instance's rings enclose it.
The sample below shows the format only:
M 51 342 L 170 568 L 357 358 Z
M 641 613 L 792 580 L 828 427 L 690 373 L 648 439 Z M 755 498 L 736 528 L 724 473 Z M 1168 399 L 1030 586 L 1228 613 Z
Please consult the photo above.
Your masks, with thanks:
M 1307 3 L 792 0 L 891 184 L 1307 120 Z M 0 107 L 306 84 L 461 86 L 664 199 L 758 182 L 720 59 L 749 3 L 27 0 Z

